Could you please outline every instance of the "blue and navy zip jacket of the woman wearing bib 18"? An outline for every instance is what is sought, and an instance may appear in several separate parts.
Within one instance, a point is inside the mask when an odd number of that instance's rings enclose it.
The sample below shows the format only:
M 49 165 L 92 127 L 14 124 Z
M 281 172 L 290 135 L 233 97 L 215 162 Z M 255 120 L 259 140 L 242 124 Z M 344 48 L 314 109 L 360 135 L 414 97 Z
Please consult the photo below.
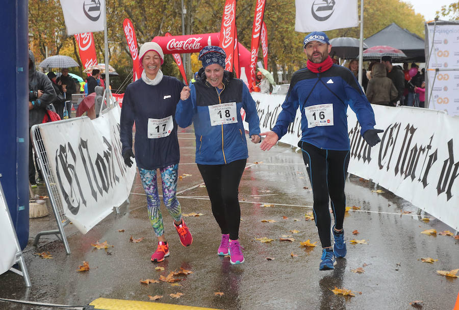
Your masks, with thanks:
M 190 85 L 190 97 L 177 104 L 175 119 L 180 127 L 193 123 L 196 135 L 196 163 L 226 164 L 248 157 L 247 141 L 241 118 L 241 107 L 245 110 L 245 121 L 249 124 L 249 135 L 259 134 L 259 118 L 255 101 L 240 79 L 230 72 L 223 75 L 224 88 L 220 95 L 203 74 Z M 236 102 L 237 123 L 211 126 L 209 106 Z

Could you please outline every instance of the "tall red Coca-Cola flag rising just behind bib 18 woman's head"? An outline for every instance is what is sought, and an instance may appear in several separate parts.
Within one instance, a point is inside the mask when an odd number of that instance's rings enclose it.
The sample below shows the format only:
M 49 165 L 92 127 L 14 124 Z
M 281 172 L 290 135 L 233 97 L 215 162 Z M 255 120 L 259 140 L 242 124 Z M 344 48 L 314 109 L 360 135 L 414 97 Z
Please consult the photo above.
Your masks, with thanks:
M 225 70 L 233 71 L 236 0 L 226 0 L 221 19 L 220 47 L 225 50 Z

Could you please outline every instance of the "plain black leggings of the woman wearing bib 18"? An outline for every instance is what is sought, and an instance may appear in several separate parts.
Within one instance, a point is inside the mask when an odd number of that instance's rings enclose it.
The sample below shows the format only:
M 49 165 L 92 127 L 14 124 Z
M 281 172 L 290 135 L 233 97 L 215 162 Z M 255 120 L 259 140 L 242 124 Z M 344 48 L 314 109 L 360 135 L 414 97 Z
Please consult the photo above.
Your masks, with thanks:
M 197 164 L 212 204 L 212 213 L 222 234 L 230 234 L 231 240 L 239 239 L 241 208 L 238 188 L 247 159 L 239 159 L 221 165 Z

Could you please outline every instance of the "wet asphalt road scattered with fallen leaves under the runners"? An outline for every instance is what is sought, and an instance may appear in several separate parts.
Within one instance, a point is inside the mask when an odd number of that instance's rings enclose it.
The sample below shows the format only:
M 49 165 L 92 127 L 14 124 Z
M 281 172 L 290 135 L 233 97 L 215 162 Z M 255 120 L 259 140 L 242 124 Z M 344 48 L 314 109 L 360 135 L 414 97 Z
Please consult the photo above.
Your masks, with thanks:
M 191 246 L 185 248 L 180 244 L 163 206 L 170 257 L 158 264 L 150 262 L 157 243 L 137 175 L 130 205 L 121 206 L 120 214 L 112 213 L 86 235 L 71 225 L 65 228 L 70 255 L 66 255 L 63 243 L 55 236 L 42 237 L 38 248 L 33 247 L 35 234 L 55 228 L 56 222 L 52 213 L 31 219 L 30 242 L 24 257 L 32 288 L 26 289 L 19 275 L 7 272 L 0 275 L 0 297 L 86 305 L 99 297 L 149 301 L 148 295 L 163 295 L 158 302 L 244 310 L 414 309 L 410 302 L 421 300 L 422 309 L 453 308 L 459 279 L 438 275 L 436 271 L 459 268 L 459 240 L 421 234 L 431 228 L 438 232 L 451 229 L 390 192 L 373 192 L 385 190 L 359 177 L 350 176 L 346 183 L 347 205 L 360 207 L 350 210 L 345 217 L 347 256 L 338 259 L 335 270 L 319 271 L 321 248 L 317 230 L 314 221 L 305 220 L 304 216 L 312 212 L 309 178 L 301 154 L 281 144 L 262 152 L 259 145 L 249 143 L 249 159 L 239 187 L 240 240 L 246 261 L 231 265 L 229 258 L 216 253 L 220 232 L 206 188 L 199 187 L 202 179 L 194 163 L 193 129 L 182 130 L 179 140 L 179 175 L 191 175 L 179 180 L 182 212 L 203 213 L 199 217 L 185 217 L 194 238 Z M 45 193 L 43 186 L 36 191 Z M 422 217 L 429 217 L 430 221 L 422 221 Z M 352 235 L 354 230 L 360 234 Z M 144 239 L 132 243 L 131 235 Z M 280 241 L 282 235 L 295 241 Z M 261 237 L 274 240 L 255 241 Z M 308 239 L 317 241 L 318 246 L 299 247 L 300 242 Z M 352 239 L 365 239 L 367 244 L 351 245 Z M 91 246 L 96 241 L 107 241 L 113 247 L 96 250 Z M 43 251 L 50 252 L 53 259 L 34 255 Z M 438 261 L 420 261 L 427 257 Z M 77 272 L 83 261 L 89 262 L 90 270 Z M 156 271 L 157 266 L 165 270 Z M 160 275 L 181 267 L 193 271 L 188 276 L 177 276 L 183 278 L 179 281 L 182 286 L 140 283 L 140 279 L 159 279 Z M 358 267 L 363 267 L 364 273 L 351 271 Z M 351 290 L 355 297 L 334 295 L 334 287 Z M 169 296 L 177 292 L 184 295 L 179 299 Z M 216 296 L 215 292 L 224 295 Z M 46 308 L 0 302 L 0 309 Z

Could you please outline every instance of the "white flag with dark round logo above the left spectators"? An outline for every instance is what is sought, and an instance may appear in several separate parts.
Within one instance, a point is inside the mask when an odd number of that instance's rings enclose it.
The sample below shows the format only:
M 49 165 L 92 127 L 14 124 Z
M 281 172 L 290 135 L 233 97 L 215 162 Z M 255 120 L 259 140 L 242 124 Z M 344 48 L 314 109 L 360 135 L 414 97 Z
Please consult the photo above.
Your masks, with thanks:
M 105 0 L 60 0 L 67 35 L 103 31 Z

